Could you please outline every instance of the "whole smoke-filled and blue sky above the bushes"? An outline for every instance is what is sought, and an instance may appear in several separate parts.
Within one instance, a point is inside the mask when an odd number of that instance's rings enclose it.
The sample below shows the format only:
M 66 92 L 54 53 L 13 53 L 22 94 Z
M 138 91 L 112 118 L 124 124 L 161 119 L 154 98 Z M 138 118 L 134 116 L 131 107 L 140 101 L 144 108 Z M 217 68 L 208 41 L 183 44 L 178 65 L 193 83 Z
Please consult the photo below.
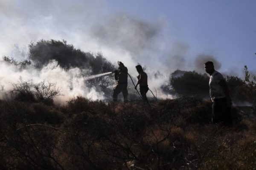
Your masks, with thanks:
M 256 71 L 255 16 L 255 0 L 0 0 L 0 56 L 64 39 L 130 70 L 203 71 L 195 61 L 209 58 L 241 76 Z

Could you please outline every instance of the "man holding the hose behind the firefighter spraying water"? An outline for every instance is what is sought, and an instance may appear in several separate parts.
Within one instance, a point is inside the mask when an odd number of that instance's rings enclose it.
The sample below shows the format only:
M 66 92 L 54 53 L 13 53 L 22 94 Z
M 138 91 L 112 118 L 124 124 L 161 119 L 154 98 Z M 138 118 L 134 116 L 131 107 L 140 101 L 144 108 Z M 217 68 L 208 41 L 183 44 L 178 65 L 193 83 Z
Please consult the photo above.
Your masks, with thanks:
M 148 75 L 143 71 L 141 65 L 137 65 L 136 69 L 139 73 L 137 85 L 140 85 L 140 95 L 142 96 L 143 102 L 148 103 L 147 95 L 148 92 Z M 135 89 L 137 89 L 137 85 Z

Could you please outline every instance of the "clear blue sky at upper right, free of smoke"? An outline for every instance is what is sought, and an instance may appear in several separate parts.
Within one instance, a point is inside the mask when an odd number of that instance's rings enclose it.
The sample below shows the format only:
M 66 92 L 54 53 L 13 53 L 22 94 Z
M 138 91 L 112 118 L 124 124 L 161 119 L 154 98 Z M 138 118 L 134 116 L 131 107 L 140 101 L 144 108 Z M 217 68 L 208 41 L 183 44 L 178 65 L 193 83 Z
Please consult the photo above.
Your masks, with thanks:
M 203 53 L 216 57 L 225 71 L 240 70 L 243 65 L 255 69 L 255 0 L 109 2 L 113 11 L 125 11 L 148 21 L 164 20 L 167 39 L 189 46 L 187 60 Z

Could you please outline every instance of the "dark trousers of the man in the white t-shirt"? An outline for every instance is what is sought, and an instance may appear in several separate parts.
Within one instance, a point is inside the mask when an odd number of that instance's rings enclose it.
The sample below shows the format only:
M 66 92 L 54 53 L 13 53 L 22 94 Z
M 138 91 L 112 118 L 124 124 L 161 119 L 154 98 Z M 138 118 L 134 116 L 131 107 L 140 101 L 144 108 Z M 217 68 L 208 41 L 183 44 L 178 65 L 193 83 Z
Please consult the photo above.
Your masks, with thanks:
M 227 99 L 215 99 L 212 103 L 212 122 L 224 122 L 224 123 L 231 123 L 231 108 L 227 107 Z

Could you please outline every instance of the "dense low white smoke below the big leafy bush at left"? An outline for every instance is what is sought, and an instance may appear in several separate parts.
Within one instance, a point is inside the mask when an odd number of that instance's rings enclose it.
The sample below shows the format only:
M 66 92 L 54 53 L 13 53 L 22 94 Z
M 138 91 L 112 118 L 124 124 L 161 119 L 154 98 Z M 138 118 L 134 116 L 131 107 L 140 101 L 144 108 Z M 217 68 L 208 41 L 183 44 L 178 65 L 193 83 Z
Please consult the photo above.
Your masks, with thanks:
M 3 89 L 0 91 L 0 99 L 3 99 L 6 92 L 13 89 L 13 84 L 19 79 L 23 82 L 32 81 L 39 83 L 47 81 L 56 83 L 56 87 L 60 89 L 60 93 L 64 94 L 56 96 L 55 102 L 65 103 L 76 96 L 84 96 L 90 99 L 103 99 L 104 93 L 99 89 L 89 88 L 84 81 L 83 75 L 89 73 L 89 70 L 81 70 L 79 68 L 71 68 L 64 70 L 58 65 L 58 62 L 52 61 L 40 71 L 35 68 L 23 69 L 20 71 L 14 65 L 0 62 L 0 85 Z

